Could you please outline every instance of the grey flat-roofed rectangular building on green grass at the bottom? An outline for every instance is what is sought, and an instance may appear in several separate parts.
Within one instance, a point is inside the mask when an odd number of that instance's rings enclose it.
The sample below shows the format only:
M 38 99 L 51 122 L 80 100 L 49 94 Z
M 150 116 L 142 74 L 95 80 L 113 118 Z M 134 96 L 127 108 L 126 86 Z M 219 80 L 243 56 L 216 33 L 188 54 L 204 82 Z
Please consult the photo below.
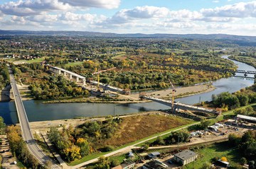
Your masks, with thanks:
M 197 157 L 198 155 L 193 151 L 184 150 L 174 155 L 174 161 L 179 164 L 186 165 L 188 163 L 191 163 L 192 161 L 195 161 Z

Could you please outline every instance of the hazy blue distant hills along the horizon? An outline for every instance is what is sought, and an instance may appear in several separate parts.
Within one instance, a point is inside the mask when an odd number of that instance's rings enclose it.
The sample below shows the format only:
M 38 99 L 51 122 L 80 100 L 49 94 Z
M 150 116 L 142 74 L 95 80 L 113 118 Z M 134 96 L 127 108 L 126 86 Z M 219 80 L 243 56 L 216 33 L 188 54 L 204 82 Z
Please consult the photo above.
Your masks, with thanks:
M 87 31 L 31 31 L 31 30 L 0 30 L 0 35 L 50 35 L 50 36 L 70 36 L 70 37 L 131 37 L 131 38 L 177 38 L 177 39 L 200 39 L 200 40 L 238 40 L 243 42 L 256 43 L 256 36 L 240 36 L 226 34 L 117 34 L 117 33 L 100 33 Z

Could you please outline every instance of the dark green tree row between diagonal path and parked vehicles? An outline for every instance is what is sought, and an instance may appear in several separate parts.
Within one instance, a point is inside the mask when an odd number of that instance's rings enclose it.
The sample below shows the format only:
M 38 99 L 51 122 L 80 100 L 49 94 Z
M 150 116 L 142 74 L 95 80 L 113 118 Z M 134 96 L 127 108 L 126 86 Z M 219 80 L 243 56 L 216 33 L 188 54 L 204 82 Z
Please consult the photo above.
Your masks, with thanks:
M 188 132 L 171 132 L 171 134 L 166 137 L 165 139 L 162 139 L 161 136 L 158 136 L 156 138 L 156 141 L 154 141 L 151 146 L 154 145 L 171 145 L 171 144 L 178 144 L 188 141 L 188 137 L 190 134 Z

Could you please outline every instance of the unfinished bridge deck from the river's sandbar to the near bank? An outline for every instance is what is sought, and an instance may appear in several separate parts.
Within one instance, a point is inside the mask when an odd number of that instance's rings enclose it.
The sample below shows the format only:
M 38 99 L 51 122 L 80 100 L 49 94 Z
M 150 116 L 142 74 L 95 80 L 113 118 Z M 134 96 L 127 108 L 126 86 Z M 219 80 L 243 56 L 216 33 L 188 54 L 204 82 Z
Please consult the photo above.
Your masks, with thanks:
M 163 105 L 171 106 L 171 101 L 170 100 L 154 98 L 154 97 L 146 96 L 146 95 L 141 95 L 140 98 L 144 98 L 144 99 L 147 99 L 147 100 L 152 100 L 156 103 L 161 103 Z M 183 103 L 174 103 L 174 110 L 175 109 L 191 110 L 191 111 L 206 112 L 206 113 L 210 112 L 210 113 L 214 113 L 216 115 L 220 114 L 220 112 L 218 112 L 216 110 L 206 109 L 206 108 L 203 108 L 203 107 L 197 107 L 197 106 L 194 106 L 194 105 L 186 105 L 186 104 L 183 104 Z

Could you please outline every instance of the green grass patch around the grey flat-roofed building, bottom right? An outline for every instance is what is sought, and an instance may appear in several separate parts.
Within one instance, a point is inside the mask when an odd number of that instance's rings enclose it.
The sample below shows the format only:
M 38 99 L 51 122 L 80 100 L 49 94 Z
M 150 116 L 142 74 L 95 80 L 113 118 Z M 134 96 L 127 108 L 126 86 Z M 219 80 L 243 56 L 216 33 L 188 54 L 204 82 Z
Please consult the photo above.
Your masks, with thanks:
M 238 164 L 240 158 L 242 158 L 241 154 L 236 148 L 230 147 L 228 141 L 216 143 L 206 148 L 201 148 L 198 151 L 198 159 L 185 165 L 184 168 L 202 168 L 203 163 L 209 162 L 215 157 L 221 158 L 225 156 L 228 159 L 230 165 Z

